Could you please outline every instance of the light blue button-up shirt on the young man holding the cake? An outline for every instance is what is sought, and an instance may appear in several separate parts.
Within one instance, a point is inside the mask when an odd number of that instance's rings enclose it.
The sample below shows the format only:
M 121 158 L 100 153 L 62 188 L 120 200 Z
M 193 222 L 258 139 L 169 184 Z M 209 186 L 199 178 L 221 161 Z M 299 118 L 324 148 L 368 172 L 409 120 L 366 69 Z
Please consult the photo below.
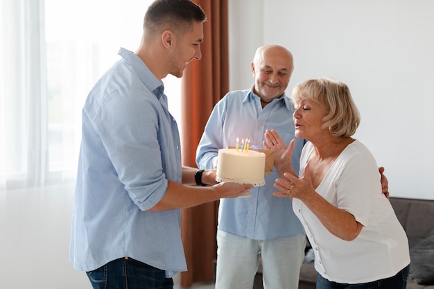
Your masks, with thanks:
M 161 80 L 119 55 L 83 107 L 69 260 L 89 271 L 129 256 L 171 277 L 186 270 L 180 210 L 146 210 L 182 181 L 180 136 Z

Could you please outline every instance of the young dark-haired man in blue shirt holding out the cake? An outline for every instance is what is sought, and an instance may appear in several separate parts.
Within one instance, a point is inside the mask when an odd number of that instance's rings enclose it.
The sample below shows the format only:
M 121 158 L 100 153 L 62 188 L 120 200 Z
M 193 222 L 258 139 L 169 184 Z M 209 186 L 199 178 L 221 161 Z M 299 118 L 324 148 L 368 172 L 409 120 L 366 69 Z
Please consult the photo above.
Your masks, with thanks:
M 139 49 L 121 49 L 87 97 L 70 261 L 94 288 L 173 288 L 171 277 L 186 270 L 179 209 L 252 188 L 191 186 L 215 182 L 215 171 L 181 164 L 162 78 L 200 60 L 205 20 L 189 0 L 154 1 Z

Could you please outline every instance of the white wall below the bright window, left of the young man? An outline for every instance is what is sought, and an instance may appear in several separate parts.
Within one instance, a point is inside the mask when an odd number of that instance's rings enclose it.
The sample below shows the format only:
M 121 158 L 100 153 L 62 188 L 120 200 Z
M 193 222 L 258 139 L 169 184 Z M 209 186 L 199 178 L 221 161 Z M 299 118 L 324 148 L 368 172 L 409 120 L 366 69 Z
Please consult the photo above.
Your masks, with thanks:
M 68 261 L 73 185 L 0 191 L 0 288 L 90 289 Z

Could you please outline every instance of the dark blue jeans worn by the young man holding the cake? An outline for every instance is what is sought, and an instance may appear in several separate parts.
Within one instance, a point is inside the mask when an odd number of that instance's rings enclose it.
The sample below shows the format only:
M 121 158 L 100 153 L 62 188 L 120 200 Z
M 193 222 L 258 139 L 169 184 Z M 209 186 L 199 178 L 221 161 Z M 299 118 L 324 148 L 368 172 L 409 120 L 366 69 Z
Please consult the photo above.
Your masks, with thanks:
M 164 270 L 131 258 L 111 261 L 86 272 L 94 289 L 173 289 L 173 279 Z

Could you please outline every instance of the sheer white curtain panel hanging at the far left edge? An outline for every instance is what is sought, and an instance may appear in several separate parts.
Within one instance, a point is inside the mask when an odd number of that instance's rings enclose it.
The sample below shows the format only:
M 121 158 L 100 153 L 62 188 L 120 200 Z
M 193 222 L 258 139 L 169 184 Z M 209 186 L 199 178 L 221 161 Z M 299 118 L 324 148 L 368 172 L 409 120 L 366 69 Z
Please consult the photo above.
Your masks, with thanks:
M 43 6 L 1 1 L 0 189 L 45 179 L 46 81 Z

